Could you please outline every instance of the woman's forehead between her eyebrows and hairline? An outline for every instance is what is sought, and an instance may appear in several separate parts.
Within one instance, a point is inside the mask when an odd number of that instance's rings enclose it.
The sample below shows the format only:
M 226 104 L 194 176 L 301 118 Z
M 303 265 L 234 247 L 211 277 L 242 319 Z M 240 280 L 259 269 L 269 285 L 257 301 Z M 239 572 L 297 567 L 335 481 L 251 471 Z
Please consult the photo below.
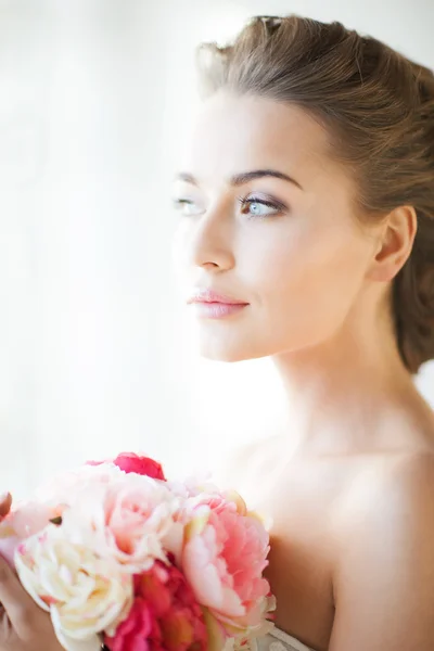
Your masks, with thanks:
M 326 129 L 307 112 L 264 98 L 220 92 L 200 107 L 183 167 L 197 178 L 227 178 L 252 168 L 311 177 L 330 170 Z

